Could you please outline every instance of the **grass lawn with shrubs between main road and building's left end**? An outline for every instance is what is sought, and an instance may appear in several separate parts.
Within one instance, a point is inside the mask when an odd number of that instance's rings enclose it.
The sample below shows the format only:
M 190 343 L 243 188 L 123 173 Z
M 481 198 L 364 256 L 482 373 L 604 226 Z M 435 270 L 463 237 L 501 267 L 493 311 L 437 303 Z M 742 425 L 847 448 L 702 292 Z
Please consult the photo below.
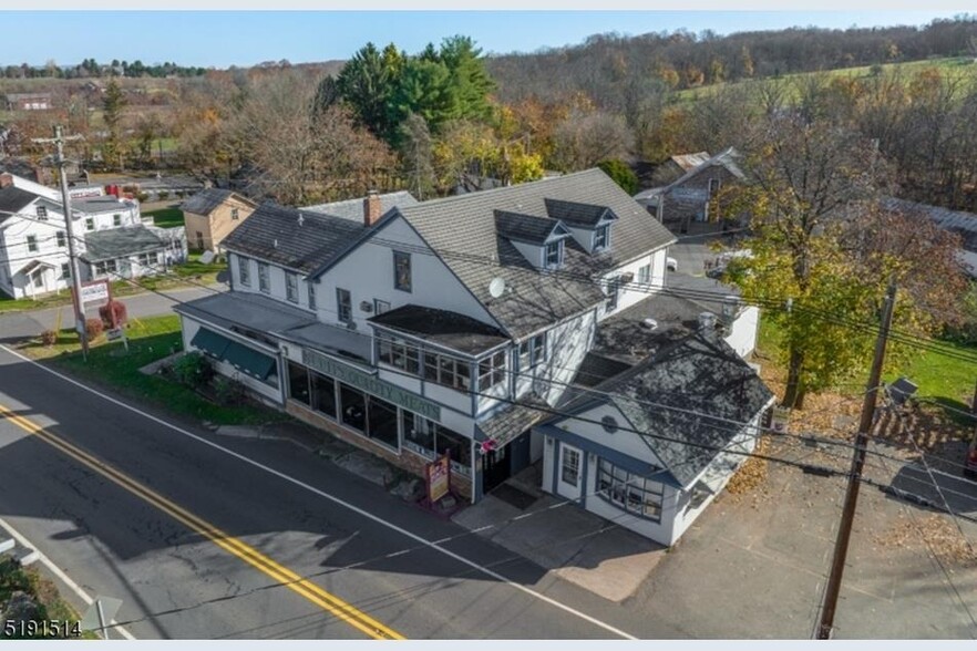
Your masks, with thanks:
M 142 366 L 179 350 L 179 318 L 175 314 L 134 319 L 126 333 L 127 353 L 121 340 L 110 342 L 102 335 L 92 342 L 88 361 L 82 358 L 78 335 L 70 329 L 62 330 L 52 347 L 34 341 L 21 350 L 32 358 L 48 359 L 53 366 L 73 375 L 182 416 L 219 425 L 260 424 L 287 418 L 285 414 L 251 404 L 218 405 L 175 380 L 141 373 Z

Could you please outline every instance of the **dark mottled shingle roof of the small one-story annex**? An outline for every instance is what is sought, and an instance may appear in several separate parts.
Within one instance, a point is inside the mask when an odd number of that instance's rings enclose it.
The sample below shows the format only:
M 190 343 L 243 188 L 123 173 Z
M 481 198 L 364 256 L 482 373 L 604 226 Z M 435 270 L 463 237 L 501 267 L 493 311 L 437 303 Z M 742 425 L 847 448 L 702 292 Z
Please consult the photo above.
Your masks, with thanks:
M 662 347 L 597 389 L 608 393 L 601 400 L 617 406 L 635 430 L 651 435 L 645 436 L 648 446 L 682 486 L 689 486 L 742 431 L 742 424 L 773 399 L 729 344 L 703 332 Z M 593 400 L 594 394 L 585 392 L 579 403 Z

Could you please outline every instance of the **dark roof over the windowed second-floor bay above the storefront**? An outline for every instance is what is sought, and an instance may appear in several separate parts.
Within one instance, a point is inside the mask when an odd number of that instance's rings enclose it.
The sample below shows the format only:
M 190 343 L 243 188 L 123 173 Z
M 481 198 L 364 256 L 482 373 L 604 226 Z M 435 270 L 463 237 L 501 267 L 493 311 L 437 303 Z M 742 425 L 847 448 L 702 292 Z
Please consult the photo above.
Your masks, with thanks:
M 383 312 L 370 321 L 470 354 L 481 353 L 507 341 L 496 328 L 471 317 L 414 304 Z

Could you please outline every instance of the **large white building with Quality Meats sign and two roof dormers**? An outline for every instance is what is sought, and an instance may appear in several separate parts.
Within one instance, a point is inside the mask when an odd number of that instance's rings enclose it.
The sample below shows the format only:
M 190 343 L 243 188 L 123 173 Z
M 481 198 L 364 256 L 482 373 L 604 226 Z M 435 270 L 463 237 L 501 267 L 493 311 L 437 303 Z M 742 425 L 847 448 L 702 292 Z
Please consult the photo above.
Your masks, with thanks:
M 176 306 L 187 350 L 266 402 L 472 500 L 543 458 L 599 322 L 665 282 L 671 234 L 598 169 L 361 218 L 265 204 L 232 291 Z

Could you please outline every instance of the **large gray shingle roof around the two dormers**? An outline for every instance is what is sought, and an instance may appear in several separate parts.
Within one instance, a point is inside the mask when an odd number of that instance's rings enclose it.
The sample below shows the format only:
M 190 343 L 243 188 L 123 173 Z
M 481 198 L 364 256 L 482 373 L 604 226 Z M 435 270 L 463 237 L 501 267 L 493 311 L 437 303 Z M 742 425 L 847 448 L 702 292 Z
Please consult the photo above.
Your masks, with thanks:
M 617 215 L 611 248 L 592 256 L 567 240 L 564 268 L 539 272 L 497 237 L 495 211 L 548 218 L 545 200 L 606 206 Z M 604 300 L 594 275 L 675 241 L 648 211 L 599 169 L 398 208 L 496 322 L 523 339 Z M 510 291 L 498 299 L 488 283 L 500 277 Z

